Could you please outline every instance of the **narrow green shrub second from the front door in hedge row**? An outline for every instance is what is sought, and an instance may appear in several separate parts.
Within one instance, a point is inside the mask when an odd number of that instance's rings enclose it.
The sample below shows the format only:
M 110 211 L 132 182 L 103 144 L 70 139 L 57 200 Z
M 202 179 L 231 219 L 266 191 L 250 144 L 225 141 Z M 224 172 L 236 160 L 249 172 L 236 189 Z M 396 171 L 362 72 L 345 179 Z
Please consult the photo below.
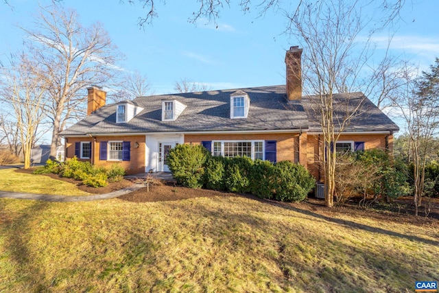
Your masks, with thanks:
M 204 187 L 214 190 L 226 190 L 224 176 L 226 159 L 222 156 L 209 156 L 204 164 Z

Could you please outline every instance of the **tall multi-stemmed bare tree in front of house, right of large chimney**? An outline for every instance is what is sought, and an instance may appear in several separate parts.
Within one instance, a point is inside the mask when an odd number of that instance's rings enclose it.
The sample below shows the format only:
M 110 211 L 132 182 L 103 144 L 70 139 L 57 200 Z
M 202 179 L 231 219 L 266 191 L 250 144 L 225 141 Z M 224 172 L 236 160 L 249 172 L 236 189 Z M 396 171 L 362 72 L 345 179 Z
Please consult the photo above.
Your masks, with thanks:
M 392 23 L 401 9 L 401 1 L 380 6 L 376 1 L 300 1 L 289 14 L 289 33 L 304 48 L 303 83 L 311 99 L 313 114 L 322 130 L 324 155 L 322 169 L 325 200 L 333 206 L 335 193 L 335 143 L 352 119 L 366 110 L 366 96 L 373 79 L 363 74 L 370 70 L 372 36 Z M 364 10 L 375 13 L 366 15 Z M 343 93 L 338 99 L 337 93 Z

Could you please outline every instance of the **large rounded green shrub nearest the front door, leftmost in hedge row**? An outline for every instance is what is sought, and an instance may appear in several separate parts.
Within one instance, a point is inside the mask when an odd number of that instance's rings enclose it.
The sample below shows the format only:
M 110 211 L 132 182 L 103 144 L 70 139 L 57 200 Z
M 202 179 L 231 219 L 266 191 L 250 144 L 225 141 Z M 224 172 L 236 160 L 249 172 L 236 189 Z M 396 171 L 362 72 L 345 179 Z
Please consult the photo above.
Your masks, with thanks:
M 202 145 L 177 145 L 171 149 L 167 163 L 177 183 L 191 188 L 204 185 L 204 163 L 209 152 Z

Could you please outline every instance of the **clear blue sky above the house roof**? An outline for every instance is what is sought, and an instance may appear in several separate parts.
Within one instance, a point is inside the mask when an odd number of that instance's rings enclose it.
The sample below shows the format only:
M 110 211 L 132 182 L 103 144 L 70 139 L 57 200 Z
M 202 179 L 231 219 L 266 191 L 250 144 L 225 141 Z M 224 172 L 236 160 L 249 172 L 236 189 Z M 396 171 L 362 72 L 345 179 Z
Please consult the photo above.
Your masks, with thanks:
M 235 1 L 238 2 L 238 1 Z M 32 26 L 38 9 L 35 0 L 9 0 L 0 4 L 0 59 L 21 48 L 23 32 L 16 27 Z M 42 5 L 50 1 L 40 0 Z M 190 5 L 187 3 L 191 3 Z M 291 1 L 295 7 L 296 1 Z M 193 1 L 166 1 L 158 4 L 158 18 L 145 30 L 137 26 L 145 13 L 140 5 L 121 4 L 119 0 L 64 0 L 74 8 L 84 25 L 104 24 L 112 42 L 125 55 L 121 67 L 145 73 L 152 93 L 174 92 L 174 82 L 187 78 L 207 84 L 211 89 L 235 89 L 285 83 L 285 50 L 297 45 L 282 34 L 285 18 L 269 11 L 257 18 L 255 11 L 243 14 L 238 8 L 225 8 L 218 27 L 207 21 L 189 23 L 197 9 Z M 407 0 L 391 46 L 392 54 L 420 65 L 422 69 L 439 56 L 439 1 Z M 384 48 L 387 35 L 376 38 Z M 380 54 L 380 49 L 377 51 Z

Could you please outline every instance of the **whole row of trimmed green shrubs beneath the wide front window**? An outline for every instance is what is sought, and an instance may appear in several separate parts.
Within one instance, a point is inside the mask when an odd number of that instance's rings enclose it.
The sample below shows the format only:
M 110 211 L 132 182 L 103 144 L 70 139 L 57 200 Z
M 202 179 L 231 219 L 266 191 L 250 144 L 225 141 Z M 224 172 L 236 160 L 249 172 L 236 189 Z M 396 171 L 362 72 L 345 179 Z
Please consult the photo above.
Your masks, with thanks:
M 307 197 L 316 183 L 302 165 L 289 161 L 252 161 L 246 156 L 211 156 L 202 145 L 177 145 L 169 152 L 167 160 L 177 183 L 185 187 L 298 202 Z

